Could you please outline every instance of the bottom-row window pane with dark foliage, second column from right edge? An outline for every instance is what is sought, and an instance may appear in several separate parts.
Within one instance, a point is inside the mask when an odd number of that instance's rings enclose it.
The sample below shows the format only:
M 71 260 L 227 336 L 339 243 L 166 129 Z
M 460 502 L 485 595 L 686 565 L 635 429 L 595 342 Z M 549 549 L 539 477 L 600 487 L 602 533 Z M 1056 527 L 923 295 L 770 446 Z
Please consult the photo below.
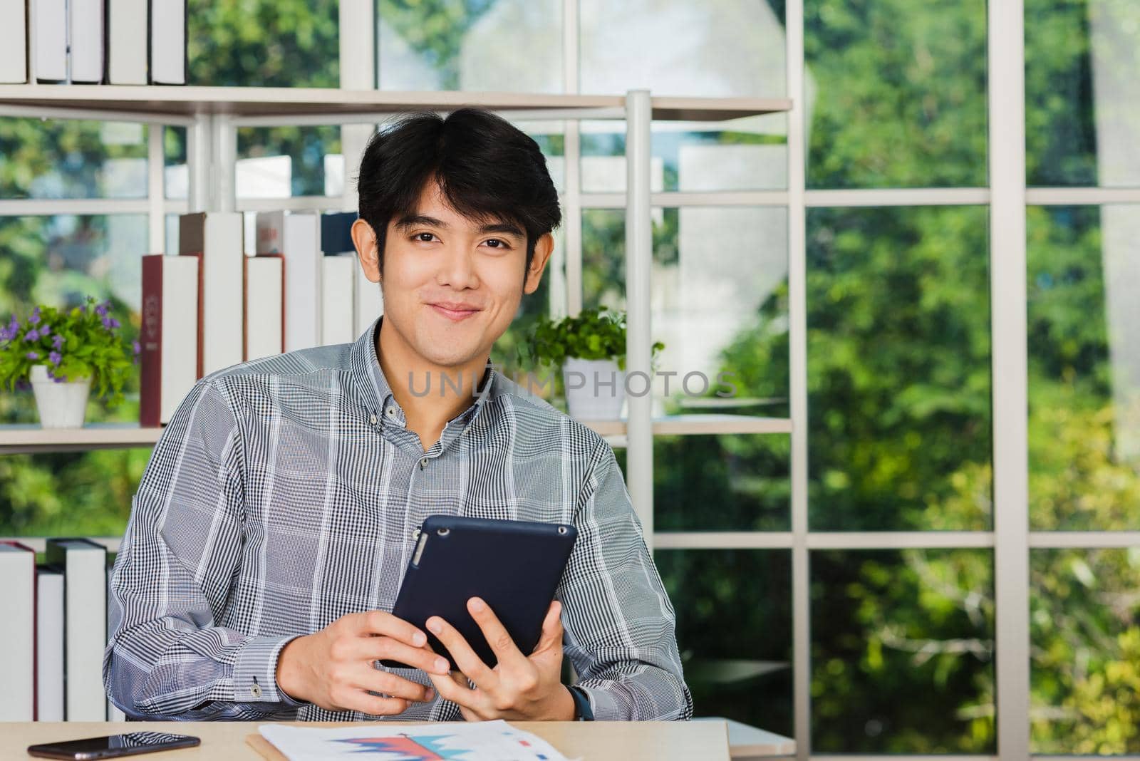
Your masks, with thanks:
M 993 553 L 811 564 L 813 752 L 994 753 Z

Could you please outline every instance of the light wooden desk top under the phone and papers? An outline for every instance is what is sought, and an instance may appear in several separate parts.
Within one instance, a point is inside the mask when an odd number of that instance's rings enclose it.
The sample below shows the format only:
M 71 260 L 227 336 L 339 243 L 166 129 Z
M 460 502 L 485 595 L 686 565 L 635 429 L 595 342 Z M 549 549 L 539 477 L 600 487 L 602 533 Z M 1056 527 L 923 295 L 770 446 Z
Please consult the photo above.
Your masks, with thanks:
M 130 722 L 0 722 L 0 759 L 30 759 L 27 746 L 54 740 L 79 739 L 128 731 L 164 731 L 194 735 L 202 745 L 161 755 L 131 756 L 155 761 L 219 761 L 261 756 L 245 744 L 246 735 L 258 734 L 261 721 L 130 721 Z M 360 725 L 292 722 L 304 727 Z M 624 722 L 536 721 L 512 722 L 534 733 L 568 759 L 584 761 L 728 761 L 728 733 L 723 721 Z

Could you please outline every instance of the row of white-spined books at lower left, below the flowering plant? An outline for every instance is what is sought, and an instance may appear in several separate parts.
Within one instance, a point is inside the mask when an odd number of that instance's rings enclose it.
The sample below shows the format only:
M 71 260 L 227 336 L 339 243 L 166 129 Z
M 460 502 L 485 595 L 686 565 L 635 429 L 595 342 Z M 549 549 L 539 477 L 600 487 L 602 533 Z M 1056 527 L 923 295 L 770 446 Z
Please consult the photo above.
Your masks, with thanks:
M 0 721 L 106 721 L 122 713 L 103 689 L 107 550 L 88 539 L 49 539 L 47 563 L 0 542 Z

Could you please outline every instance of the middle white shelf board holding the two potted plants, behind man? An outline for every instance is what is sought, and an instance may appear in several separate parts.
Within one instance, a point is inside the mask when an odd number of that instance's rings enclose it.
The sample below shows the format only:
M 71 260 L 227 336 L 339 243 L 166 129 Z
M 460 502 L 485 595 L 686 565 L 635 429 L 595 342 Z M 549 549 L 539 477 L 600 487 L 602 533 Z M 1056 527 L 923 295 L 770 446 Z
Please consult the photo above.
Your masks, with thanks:
M 583 420 L 583 424 L 609 439 L 620 441 L 626 434 L 625 420 Z M 791 420 L 744 415 L 673 415 L 654 419 L 653 433 L 659 435 L 791 433 Z M 82 428 L 2 425 L 0 455 L 153 447 L 161 434 L 162 428 L 144 428 L 131 423 L 92 423 Z

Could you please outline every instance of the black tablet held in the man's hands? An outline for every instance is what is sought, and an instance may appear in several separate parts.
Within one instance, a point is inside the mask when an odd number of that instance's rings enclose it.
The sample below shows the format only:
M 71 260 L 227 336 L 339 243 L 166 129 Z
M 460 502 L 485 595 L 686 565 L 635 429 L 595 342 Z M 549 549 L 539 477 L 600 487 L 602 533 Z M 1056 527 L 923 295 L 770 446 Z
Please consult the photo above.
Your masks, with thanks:
M 530 655 L 577 535 L 570 524 L 432 515 L 420 526 L 392 615 L 423 630 L 432 649 L 458 670 L 451 654 L 427 631 L 427 619 L 440 616 L 494 668 L 498 658 L 467 612 L 467 600 L 481 597 L 519 649 Z

